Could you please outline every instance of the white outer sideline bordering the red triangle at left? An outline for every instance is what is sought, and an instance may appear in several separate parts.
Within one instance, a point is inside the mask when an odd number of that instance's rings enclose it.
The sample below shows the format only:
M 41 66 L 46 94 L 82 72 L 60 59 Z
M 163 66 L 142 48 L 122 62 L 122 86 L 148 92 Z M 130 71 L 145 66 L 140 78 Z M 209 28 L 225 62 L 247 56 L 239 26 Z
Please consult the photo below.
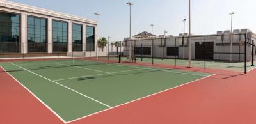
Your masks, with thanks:
M 55 116 L 57 116 L 61 121 L 63 121 L 63 123 L 67 123 L 67 121 L 63 120 L 63 118 L 61 118 L 61 116 L 59 114 L 57 114 L 55 111 L 53 111 L 51 109 L 51 107 L 49 107 L 48 105 L 46 105 L 42 100 L 40 100 L 38 97 L 36 97 L 36 95 L 34 93 L 32 93 L 28 88 L 26 88 L 26 86 L 24 86 L 20 81 L 18 81 L 17 79 L 15 79 L 15 77 L 13 77 L 9 72 L 7 72 L 2 66 L 0 66 L 8 75 L 10 75 L 10 77 L 12 77 L 16 82 L 18 82 L 20 84 L 20 86 L 22 86 L 24 89 L 26 89 L 31 95 L 33 95 L 33 97 L 35 97 L 39 102 L 41 102 L 47 109 L 49 109 L 53 114 L 55 114 Z

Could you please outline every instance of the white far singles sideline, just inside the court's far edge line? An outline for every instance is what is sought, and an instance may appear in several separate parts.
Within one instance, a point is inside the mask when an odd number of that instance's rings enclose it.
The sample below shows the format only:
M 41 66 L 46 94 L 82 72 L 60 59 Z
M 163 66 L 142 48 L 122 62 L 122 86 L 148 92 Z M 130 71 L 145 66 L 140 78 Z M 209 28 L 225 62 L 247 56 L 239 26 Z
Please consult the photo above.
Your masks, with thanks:
M 159 70 L 159 69 L 156 69 L 156 68 L 144 68 L 144 67 L 139 67 L 139 66 L 133 66 L 133 65 L 129 65 L 129 66 L 126 66 L 126 65 L 116 65 L 116 64 L 109 64 L 109 65 L 113 65 L 113 66 L 125 66 L 125 67 L 132 67 L 132 68 L 141 68 L 141 69 L 147 69 L 147 70 L 156 70 L 156 71 L 162 71 L 162 72 L 172 72 L 172 73 L 175 73 L 175 74 L 186 74 L 186 75 L 195 75 L 195 76 L 200 76 L 200 77 L 205 77 L 207 75 L 200 75 L 200 74 L 191 74 L 191 73 L 186 73 L 186 72 L 175 72 L 175 71 L 171 71 L 171 70 Z

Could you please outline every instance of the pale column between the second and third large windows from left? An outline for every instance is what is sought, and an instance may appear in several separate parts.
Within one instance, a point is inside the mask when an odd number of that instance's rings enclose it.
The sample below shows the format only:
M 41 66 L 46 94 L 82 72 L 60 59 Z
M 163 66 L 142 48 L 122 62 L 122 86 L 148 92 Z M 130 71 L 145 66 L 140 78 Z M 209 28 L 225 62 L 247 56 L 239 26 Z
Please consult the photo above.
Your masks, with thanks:
M 47 42 L 48 42 L 48 53 L 52 53 L 52 19 L 47 21 Z

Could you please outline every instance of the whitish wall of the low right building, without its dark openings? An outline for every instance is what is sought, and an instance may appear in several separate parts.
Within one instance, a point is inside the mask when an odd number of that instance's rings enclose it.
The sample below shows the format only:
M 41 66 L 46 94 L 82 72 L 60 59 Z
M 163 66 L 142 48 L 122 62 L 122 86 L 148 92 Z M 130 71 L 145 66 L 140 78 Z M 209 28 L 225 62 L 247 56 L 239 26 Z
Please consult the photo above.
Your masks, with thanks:
M 243 30 L 242 30 L 243 31 Z M 248 37 L 251 37 L 251 33 L 249 32 L 249 30 L 247 29 L 246 31 L 248 34 Z M 223 31 L 221 31 L 223 32 Z M 228 31 L 226 31 L 226 33 L 228 34 Z M 194 36 L 191 37 L 191 58 L 195 59 L 195 42 L 204 42 L 206 40 L 206 42 L 214 42 L 214 48 L 213 48 L 213 52 L 227 52 L 230 53 L 230 40 L 232 39 L 232 53 L 239 53 L 240 51 L 240 55 L 239 54 L 232 54 L 232 61 L 244 61 L 244 45 L 239 45 L 240 41 L 243 41 L 244 35 L 241 35 L 239 38 L 239 35 L 233 35 L 232 37 L 229 36 L 216 36 L 216 35 L 208 35 L 208 36 Z M 239 38 L 239 39 L 237 39 Z M 166 46 L 165 47 L 159 47 L 159 45 L 161 44 L 161 39 L 156 38 L 154 39 L 154 57 L 155 58 L 174 58 L 175 56 L 167 56 L 166 55 L 166 47 L 174 47 L 175 46 L 175 39 L 176 39 L 176 46 L 179 47 L 179 56 L 177 56 L 177 58 L 183 58 L 183 53 L 184 53 L 184 57 L 185 59 L 188 58 L 188 44 L 187 44 L 187 38 L 184 38 L 184 42 L 185 42 L 185 47 L 183 50 L 183 45 L 182 45 L 182 37 L 173 37 L 173 38 L 166 38 Z M 229 41 L 229 42 L 228 42 Z M 248 41 L 250 42 L 250 41 Z M 132 41 L 132 56 L 134 53 L 134 43 L 136 43 L 136 47 L 141 47 L 141 43 L 143 44 L 143 47 L 151 47 L 152 48 L 152 39 L 144 39 L 144 40 L 136 40 L 136 42 Z M 125 42 L 124 42 L 125 44 Z M 162 44 L 164 44 L 164 38 L 162 39 Z M 127 54 L 129 54 L 129 41 L 127 43 L 128 45 L 128 51 L 127 51 L 127 47 L 124 47 L 124 55 L 126 56 Z M 251 50 L 252 47 L 250 45 L 248 45 L 246 47 L 246 59 L 247 61 L 251 61 Z M 151 49 L 152 52 L 152 49 Z M 214 55 L 214 60 L 225 60 L 228 61 L 230 60 L 230 54 L 213 54 Z M 141 56 L 141 55 L 136 55 L 136 56 Z M 145 57 L 151 57 L 151 56 L 146 56 Z

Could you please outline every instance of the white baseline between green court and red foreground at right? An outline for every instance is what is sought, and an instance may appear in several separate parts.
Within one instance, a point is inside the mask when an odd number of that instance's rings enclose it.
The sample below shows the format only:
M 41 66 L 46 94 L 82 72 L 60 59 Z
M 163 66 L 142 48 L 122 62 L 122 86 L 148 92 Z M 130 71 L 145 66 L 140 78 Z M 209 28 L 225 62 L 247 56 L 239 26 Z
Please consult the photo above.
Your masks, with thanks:
M 81 118 L 77 118 L 76 120 L 68 121 L 67 123 L 72 123 L 72 122 L 74 122 L 74 121 L 81 120 L 81 119 L 83 119 L 83 118 L 87 118 L 87 117 L 89 117 L 89 116 L 93 116 L 93 115 L 95 115 L 95 114 L 99 114 L 99 113 L 104 112 L 104 111 L 109 111 L 109 110 L 111 110 L 111 109 L 115 109 L 116 107 L 120 107 L 120 106 L 123 106 L 123 105 L 126 105 L 126 104 L 131 104 L 132 102 L 136 102 L 136 101 L 141 100 L 141 99 L 145 99 L 145 98 L 148 98 L 148 97 L 152 97 L 152 96 L 154 96 L 154 95 L 157 95 L 157 94 L 160 94 L 160 93 L 163 93 L 163 92 L 166 92 L 166 91 L 170 91 L 170 90 L 172 90 L 172 89 L 179 88 L 179 87 L 181 87 L 181 86 L 185 86 L 185 85 L 191 84 L 192 82 L 196 82 L 196 81 L 200 81 L 200 80 L 202 80 L 202 79 L 206 79 L 207 77 L 211 77 L 211 76 L 213 76 L 213 75 L 215 75 L 215 74 L 208 75 L 208 76 L 206 76 L 206 77 L 202 77 L 202 78 L 197 79 L 197 80 L 195 80 L 195 81 L 187 82 L 186 84 L 181 84 L 181 85 L 179 85 L 179 86 L 175 86 L 175 87 L 173 87 L 173 88 L 166 89 L 166 90 L 164 90 L 164 91 L 159 91 L 159 92 L 154 93 L 154 94 L 152 94 L 152 95 L 148 95 L 148 96 L 146 96 L 146 97 L 141 97 L 141 98 L 138 98 L 138 99 L 136 99 L 136 100 L 132 100 L 132 101 L 130 101 L 130 102 L 126 102 L 126 103 L 124 103 L 124 104 L 116 105 L 116 106 L 111 107 L 111 108 L 109 108 L 109 109 L 105 109 L 105 110 L 103 110 L 103 111 L 95 112 L 95 113 L 93 113 L 93 114 L 89 114 L 89 115 L 87 115 L 87 116 L 83 116 L 83 117 L 81 117 Z

